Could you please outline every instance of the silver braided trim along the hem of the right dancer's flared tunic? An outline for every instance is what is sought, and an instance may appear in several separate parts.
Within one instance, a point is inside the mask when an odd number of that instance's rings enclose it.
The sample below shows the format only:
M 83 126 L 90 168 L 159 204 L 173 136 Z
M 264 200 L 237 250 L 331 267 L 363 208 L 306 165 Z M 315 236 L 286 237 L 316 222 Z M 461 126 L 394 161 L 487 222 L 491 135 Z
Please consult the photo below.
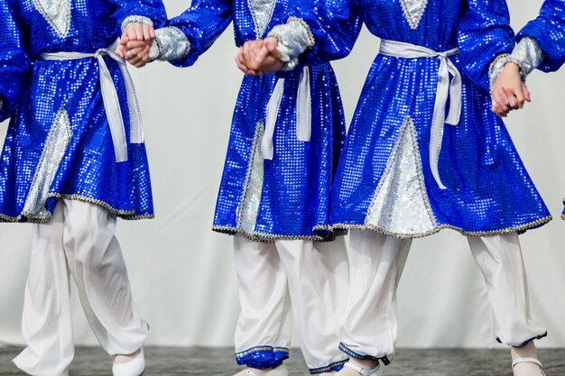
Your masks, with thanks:
M 529 222 L 527 224 L 524 224 L 524 225 L 517 225 L 517 226 L 514 226 L 514 227 L 506 227 L 506 228 L 502 228 L 502 229 L 499 229 L 499 230 L 491 230 L 491 231 L 465 231 L 462 228 L 454 226 L 454 225 L 439 225 L 439 226 L 435 227 L 434 229 L 432 229 L 430 231 L 427 231 L 425 233 L 420 233 L 420 234 L 391 233 L 391 232 L 388 232 L 388 231 L 386 231 L 386 230 L 384 230 L 380 227 L 374 226 L 374 225 L 336 224 L 336 225 L 331 225 L 330 228 L 331 228 L 331 231 L 334 232 L 334 233 L 337 233 L 338 231 L 347 231 L 347 230 L 371 230 L 371 231 L 375 231 L 376 233 L 384 234 L 385 236 L 390 236 L 390 237 L 394 237 L 394 238 L 398 238 L 398 239 L 422 238 L 422 237 L 429 236 L 431 234 L 439 233 L 443 229 L 454 230 L 454 231 L 457 231 L 460 234 L 463 234 L 464 236 L 496 236 L 496 235 L 509 234 L 509 233 L 523 233 L 523 232 L 530 230 L 532 228 L 536 228 L 536 227 L 540 227 L 542 225 L 545 225 L 548 222 L 550 222 L 552 219 L 553 219 L 552 216 L 544 216 L 542 218 L 536 219 L 536 220 Z

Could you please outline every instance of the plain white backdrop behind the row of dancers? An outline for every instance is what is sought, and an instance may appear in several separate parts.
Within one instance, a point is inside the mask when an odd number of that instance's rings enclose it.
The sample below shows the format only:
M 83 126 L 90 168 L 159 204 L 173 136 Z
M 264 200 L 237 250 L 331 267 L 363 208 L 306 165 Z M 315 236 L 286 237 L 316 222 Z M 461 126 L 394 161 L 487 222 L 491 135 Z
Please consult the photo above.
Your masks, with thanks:
M 511 0 L 518 28 L 541 0 Z M 189 1 L 165 0 L 169 14 Z M 378 41 L 366 30 L 337 61 L 347 120 Z M 134 70 L 144 114 L 156 218 L 121 221 L 134 298 L 152 326 L 149 344 L 230 346 L 238 315 L 231 237 L 210 230 L 242 74 L 228 30 L 190 69 L 168 63 Z M 565 346 L 565 69 L 529 78 L 533 103 L 506 124 L 554 221 L 522 236 L 533 316 L 547 326 L 541 346 Z M 4 137 L 5 125 L 0 126 Z M 22 344 L 20 316 L 31 226 L 0 225 L 0 343 Z M 77 344 L 96 344 L 73 291 Z M 400 346 L 492 347 L 486 289 L 466 239 L 444 231 L 414 241 L 399 290 Z

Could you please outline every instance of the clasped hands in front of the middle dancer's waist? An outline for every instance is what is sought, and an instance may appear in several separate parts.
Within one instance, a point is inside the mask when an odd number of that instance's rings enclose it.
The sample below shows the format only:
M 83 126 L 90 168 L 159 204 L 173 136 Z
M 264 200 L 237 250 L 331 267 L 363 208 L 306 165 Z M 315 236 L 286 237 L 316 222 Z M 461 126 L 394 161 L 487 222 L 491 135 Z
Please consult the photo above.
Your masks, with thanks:
M 240 47 L 236 64 L 246 75 L 261 76 L 264 73 L 273 73 L 282 69 L 284 62 L 281 53 L 277 50 L 278 41 L 274 38 L 265 40 L 246 41 Z

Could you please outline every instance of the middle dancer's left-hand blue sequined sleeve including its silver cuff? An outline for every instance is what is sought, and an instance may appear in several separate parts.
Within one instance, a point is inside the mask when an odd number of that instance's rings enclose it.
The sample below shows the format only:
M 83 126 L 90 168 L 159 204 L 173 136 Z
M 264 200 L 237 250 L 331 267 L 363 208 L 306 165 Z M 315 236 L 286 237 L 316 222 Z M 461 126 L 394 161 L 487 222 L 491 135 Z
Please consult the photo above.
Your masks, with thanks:
M 189 67 L 210 48 L 233 18 L 231 0 L 194 0 L 183 14 L 157 31 L 159 59 Z

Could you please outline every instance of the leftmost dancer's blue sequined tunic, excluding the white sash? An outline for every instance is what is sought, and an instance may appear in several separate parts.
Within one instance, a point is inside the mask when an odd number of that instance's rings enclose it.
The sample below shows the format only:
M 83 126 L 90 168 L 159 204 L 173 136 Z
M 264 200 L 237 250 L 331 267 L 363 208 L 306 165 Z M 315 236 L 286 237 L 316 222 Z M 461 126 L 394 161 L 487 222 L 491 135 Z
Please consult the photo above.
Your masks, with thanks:
M 108 48 L 122 23 L 163 23 L 162 2 L 0 0 L 0 8 L 0 119 L 11 117 L 0 159 L 0 219 L 47 222 L 58 197 L 86 200 L 127 219 L 153 216 L 145 147 L 129 142 L 118 63 L 104 58 L 124 122 L 127 157 L 120 162 L 97 59 L 46 60 L 42 54 Z

